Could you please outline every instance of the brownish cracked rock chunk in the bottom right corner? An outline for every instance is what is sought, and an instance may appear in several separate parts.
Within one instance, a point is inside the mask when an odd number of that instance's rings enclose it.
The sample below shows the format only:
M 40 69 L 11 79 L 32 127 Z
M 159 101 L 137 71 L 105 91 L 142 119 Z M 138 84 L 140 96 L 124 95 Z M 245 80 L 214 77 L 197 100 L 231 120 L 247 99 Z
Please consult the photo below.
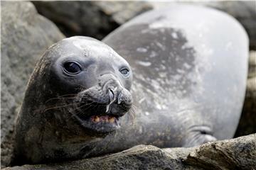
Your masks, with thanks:
M 203 169 L 255 169 L 256 134 L 201 145 L 184 162 Z

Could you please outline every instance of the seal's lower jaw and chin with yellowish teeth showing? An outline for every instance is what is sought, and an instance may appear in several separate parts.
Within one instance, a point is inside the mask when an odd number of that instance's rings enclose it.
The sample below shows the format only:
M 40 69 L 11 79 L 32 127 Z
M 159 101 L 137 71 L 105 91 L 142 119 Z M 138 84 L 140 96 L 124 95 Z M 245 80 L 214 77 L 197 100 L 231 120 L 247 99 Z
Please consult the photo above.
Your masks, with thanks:
M 109 133 L 120 128 L 120 120 L 117 115 L 92 115 L 87 118 L 75 116 L 83 128 L 93 132 Z

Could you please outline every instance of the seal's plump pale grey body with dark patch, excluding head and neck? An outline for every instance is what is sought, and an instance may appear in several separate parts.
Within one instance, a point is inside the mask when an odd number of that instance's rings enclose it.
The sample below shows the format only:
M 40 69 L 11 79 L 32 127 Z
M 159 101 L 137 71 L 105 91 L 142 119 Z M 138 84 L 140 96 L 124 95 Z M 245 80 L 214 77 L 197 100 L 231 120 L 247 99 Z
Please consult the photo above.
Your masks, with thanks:
M 172 5 L 110 33 L 133 69 L 134 126 L 110 149 L 146 144 L 193 147 L 233 137 L 245 97 L 248 38 L 226 13 Z

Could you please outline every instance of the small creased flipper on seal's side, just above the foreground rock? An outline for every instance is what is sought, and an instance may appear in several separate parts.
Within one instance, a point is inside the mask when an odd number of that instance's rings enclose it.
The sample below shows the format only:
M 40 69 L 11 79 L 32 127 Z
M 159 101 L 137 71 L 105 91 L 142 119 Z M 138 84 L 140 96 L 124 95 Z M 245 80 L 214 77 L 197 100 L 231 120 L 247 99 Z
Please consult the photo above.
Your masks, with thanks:
M 208 126 L 193 126 L 188 131 L 188 135 L 184 140 L 182 147 L 195 147 L 216 140 L 217 139 L 213 137 L 213 130 Z

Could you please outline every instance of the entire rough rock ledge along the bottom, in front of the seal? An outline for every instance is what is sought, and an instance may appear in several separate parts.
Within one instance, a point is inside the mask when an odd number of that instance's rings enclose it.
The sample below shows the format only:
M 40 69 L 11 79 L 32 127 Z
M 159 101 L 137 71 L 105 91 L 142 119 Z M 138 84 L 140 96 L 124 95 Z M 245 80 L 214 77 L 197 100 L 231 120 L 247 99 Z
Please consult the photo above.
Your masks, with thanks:
M 24 165 L 16 169 L 255 169 L 256 134 L 210 142 L 192 148 L 159 149 L 138 145 L 105 157 L 59 164 Z

